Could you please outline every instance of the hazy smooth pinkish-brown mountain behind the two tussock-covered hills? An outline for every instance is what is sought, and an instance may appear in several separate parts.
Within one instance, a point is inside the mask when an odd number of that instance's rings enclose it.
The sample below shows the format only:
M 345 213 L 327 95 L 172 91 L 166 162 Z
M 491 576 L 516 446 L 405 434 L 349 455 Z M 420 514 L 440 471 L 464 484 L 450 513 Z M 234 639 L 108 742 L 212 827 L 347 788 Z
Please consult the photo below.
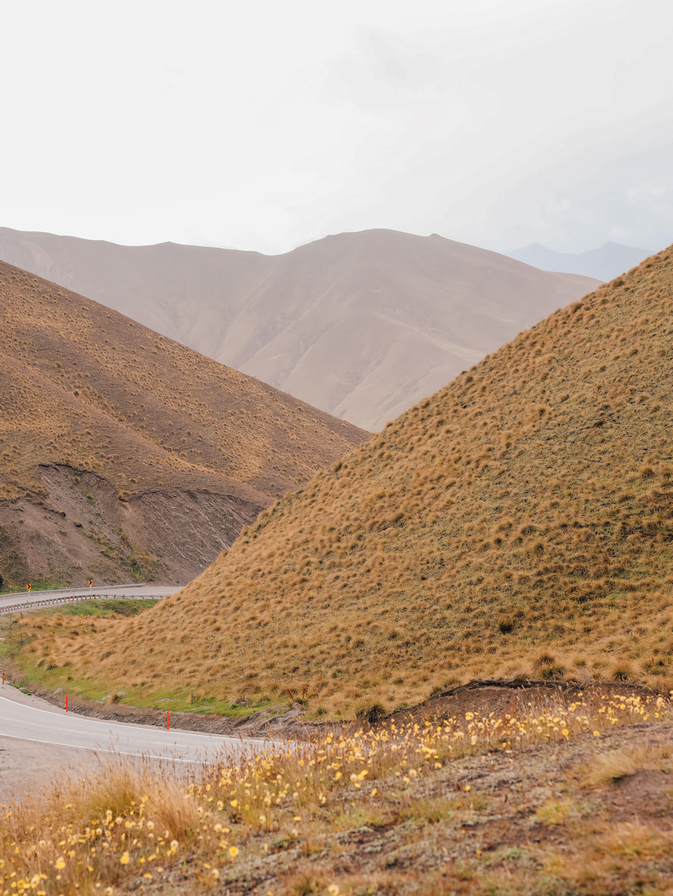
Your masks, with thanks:
M 382 229 L 263 255 L 0 228 L 0 258 L 370 430 L 600 283 Z

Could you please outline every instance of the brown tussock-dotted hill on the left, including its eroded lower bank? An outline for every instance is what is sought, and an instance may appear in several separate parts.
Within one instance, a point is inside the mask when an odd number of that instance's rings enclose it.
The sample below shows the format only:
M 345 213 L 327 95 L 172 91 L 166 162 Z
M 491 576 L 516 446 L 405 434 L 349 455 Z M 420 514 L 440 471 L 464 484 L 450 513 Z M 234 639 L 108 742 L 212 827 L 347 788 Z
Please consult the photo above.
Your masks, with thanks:
M 185 582 L 367 436 L 0 263 L 0 576 Z

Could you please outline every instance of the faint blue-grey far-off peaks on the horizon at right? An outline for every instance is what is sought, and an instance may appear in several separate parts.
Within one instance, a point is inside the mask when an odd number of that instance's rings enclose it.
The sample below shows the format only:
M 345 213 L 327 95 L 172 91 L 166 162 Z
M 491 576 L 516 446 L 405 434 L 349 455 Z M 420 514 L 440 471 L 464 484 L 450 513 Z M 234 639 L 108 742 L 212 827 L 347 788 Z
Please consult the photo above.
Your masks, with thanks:
M 555 252 L 539 243 L 523 246 L 515 252 L 507 253 L 509 258 L 517 262 L 532 264 L 540 271 L 563 271 L 569 274 L 582 274 L 584 277 L 595 277 L 597 280 L 613 280 L 619 274 L 630 271 L 651 255 L 649 249 L 636 249 L 634 246 L 621 246 L 619 243 L 605 243 L 598 249 L 589 252 Z

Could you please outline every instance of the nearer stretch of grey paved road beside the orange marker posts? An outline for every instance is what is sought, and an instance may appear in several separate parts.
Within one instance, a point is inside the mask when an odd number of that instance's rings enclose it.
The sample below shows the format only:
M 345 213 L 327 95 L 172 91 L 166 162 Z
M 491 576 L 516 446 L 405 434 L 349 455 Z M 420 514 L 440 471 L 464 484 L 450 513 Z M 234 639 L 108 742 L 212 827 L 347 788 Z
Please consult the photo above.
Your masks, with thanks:
M 196 764 L 212 760 L 223 749 L 241 752 L 251 740 L 191 731 L 166 731 L 150 725 L 128 725 L 89 719 L 73 712 L 53 712 L 0 696 L 0 738 L 64 746 L 73 751 L 144 756 Z

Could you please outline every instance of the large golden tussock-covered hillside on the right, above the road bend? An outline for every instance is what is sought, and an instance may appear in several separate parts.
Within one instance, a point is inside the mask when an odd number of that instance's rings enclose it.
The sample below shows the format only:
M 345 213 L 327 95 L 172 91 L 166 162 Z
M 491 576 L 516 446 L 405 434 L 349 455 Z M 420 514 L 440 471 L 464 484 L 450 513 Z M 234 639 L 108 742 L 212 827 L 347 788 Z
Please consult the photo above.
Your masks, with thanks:
M 174 598 L 41 650 L 139 694 L 306 688 L 343 715 L 472 676 L 655 684 L 673 652 L 672 362 L 669 248 L 264 511 Z

